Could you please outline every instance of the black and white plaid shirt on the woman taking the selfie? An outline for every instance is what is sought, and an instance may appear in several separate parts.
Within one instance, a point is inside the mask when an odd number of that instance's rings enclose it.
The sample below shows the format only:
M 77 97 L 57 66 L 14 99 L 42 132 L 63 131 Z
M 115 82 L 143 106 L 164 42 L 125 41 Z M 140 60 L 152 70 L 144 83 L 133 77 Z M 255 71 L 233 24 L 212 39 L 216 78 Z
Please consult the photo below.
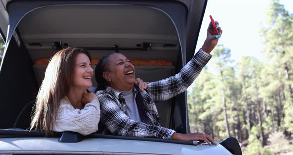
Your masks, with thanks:
M 105 125 L 113 135 L 171 139 L 175 131 L 160 126 L 155 102 L 168 100 L 184 92 L 199 76 L 211 58 L 212 55 L 200 49 L 181 69 L 180 73 L 147 84 L 147 91 L 141 92 L 147 115 L 147 118 L 142 120 L 143 122 L 129 118 L 124 96 L 118 90 L 108 86 L 105 90 L 97 91 L 101 111 L 100 123 Z M 136 97 L 139 91 L 135 87 L 133 87 L 133 91 Z

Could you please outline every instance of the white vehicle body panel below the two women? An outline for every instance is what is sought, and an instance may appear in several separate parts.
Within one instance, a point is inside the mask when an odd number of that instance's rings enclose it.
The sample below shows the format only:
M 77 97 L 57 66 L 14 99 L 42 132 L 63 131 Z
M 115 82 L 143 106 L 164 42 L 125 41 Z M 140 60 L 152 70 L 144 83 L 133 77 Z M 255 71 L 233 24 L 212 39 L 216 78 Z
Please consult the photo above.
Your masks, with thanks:
M 12 153 L 78 153 L 78 154 L 147 154 L 147 155 L 227 155 L 221 145 L 181 145 L 137 140 L 87 138 L 78 143 L 60 143 L 58 138 L 0 138 L 0 152 Z

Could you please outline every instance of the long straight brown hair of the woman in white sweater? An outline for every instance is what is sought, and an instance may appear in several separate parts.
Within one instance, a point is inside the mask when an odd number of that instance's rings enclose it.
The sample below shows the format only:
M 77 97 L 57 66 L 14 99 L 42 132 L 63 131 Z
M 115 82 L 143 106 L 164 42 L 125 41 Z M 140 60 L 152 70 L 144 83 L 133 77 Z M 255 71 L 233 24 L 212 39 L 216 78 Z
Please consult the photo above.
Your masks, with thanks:
M 89 53 L 80 48 L 60 50 L 50 60 L 33 108 L 30 129 L 44 130 L 46 136 L 53 136 L 51 125 L 56 121 L 60 100 L 69 92 L 79 53 L 91 60 Z

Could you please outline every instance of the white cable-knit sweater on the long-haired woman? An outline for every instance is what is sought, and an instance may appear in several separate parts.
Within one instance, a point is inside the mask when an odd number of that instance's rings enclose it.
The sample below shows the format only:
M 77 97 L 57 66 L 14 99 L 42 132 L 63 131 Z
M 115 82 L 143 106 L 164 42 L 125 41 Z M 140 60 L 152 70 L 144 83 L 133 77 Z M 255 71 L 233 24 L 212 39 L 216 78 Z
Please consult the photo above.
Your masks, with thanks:
M 88 135 L 98 130 L 100 121 L 100 104 L 97 99 L 87 103 L 83 109 L 75 109 L 67 97 L 60 101 L 53 131 L 73 131 Z

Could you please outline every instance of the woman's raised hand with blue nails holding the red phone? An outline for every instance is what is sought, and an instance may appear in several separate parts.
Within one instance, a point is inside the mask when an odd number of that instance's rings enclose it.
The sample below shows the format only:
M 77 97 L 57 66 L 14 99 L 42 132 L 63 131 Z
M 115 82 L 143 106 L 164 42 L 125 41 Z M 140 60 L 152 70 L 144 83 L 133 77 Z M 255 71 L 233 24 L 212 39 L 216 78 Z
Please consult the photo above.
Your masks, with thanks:
M 204 50 L 205 52 L 207 52 L 209 54 L 216 47 L 216 45 L 219 41 L 219 38 L 221 37 L 222 32 L 223 32 L 219 26 L 219 22 L 215 21 L 215 24 L 218 25 L 217 29 L 219 31 L 219 35 L 216 34 L 212 22 L 210 22 L 209 27 L 208 27 L 208 32 L 207 32 L 207 38 L 205 40 L 204 45 L 202 46 L 202 50 Z

